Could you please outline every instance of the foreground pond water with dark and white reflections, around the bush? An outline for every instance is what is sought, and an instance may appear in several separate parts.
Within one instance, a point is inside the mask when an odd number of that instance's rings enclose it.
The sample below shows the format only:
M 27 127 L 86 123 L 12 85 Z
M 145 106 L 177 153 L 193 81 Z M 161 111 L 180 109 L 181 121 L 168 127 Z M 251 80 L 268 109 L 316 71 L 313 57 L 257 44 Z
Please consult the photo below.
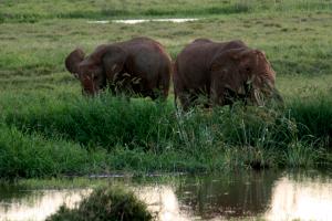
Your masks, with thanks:
M 315 170 L 113 180 L 133 189 L 163 221 L 332 220 L 332 175 Z M 91 191 L 0 186 L 0 220 L 44 220 L 63 202 L 74 207 Z

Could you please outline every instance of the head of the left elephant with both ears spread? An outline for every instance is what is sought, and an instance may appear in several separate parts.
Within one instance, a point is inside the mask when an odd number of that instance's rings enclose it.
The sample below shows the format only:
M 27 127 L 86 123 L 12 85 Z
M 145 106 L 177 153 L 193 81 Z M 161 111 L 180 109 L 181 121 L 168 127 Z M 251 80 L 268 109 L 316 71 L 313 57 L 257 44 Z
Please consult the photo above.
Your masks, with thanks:
M 94 95 L 123 71 L 126 60 L 121 46 L 101 45 L 86 57 L 81 49 L 74 50 L 65 59 L 65 67 L 80 80 L 84 94 Z

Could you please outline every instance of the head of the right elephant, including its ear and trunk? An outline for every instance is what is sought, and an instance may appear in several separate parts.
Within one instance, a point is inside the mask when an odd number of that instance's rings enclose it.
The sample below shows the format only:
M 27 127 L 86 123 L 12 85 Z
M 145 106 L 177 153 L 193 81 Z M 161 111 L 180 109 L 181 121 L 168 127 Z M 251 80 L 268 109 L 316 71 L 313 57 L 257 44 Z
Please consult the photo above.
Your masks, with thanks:
M 226 94 L 247 97 L 263 105 L 263 97 L 281 96 L 274 87 L 276 73 L 263 52 L 248 48 L 231 49 L 215 56 L 211 62 L 211 99 L 226 104 Z

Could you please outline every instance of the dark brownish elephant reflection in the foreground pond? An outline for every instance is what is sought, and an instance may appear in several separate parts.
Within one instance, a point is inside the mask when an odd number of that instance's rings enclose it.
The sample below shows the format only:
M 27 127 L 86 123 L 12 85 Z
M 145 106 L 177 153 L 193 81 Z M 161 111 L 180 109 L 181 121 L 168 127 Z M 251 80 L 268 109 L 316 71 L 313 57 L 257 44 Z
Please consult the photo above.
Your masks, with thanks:
M 238 172 L 185 182 L 177 189 L 181 204 L 203 219 L 242 218 L 260 214 L 271 199 L 273 181 L 280 172 Z

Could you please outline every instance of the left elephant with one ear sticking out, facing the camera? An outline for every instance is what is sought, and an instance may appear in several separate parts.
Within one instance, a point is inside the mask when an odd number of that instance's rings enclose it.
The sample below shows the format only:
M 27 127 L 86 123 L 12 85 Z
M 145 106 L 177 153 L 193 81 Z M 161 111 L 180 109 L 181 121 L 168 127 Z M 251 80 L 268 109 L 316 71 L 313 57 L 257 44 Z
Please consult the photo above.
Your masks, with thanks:
M 166 99 L 168 95 L 170 56 L 159 42 L 148 38 L 102 44 L 87 56 L 77 48 L 64 63 L 86 95 L 106 87 L 115 94 L 138 94 L 152 99 Z

